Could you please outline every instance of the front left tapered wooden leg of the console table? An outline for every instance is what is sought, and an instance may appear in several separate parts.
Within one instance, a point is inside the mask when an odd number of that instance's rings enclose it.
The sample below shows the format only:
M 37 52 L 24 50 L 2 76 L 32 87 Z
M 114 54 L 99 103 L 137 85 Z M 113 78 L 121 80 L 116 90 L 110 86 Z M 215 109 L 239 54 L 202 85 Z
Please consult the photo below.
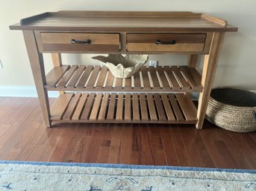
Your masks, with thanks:
M 33 30 L 22 30 L 25 39 L 25 45 L 28 51 L 28 58 L 31 64 L 34 82 L 37 88 L 37 94 L 40 101 L 40 107 L 43 113 L 43 120 L 46 127 L 51 126 L 49 99 L 44 85 L 46 85 L 46 74 L 43 65 L 43 54 L 37 50 L 37 42 Z

